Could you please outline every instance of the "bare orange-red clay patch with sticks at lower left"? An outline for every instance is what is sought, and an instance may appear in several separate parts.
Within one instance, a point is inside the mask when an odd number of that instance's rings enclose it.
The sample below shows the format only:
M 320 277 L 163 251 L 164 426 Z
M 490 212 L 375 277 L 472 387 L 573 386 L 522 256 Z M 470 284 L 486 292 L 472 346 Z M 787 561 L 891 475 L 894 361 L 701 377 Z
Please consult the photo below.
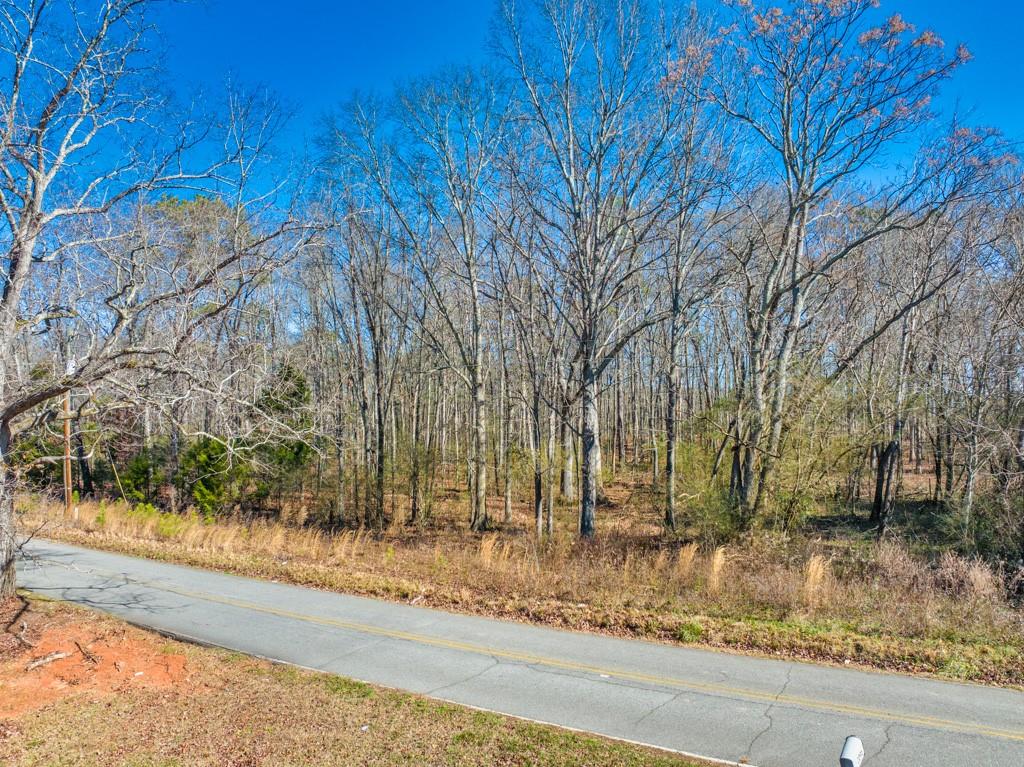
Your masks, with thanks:
M 11 599 L 0 605 L 0 720 L 78 692 L 167 687 L 187 676 L 184 655 L 163 652 L 141 632 L 68 608 Z

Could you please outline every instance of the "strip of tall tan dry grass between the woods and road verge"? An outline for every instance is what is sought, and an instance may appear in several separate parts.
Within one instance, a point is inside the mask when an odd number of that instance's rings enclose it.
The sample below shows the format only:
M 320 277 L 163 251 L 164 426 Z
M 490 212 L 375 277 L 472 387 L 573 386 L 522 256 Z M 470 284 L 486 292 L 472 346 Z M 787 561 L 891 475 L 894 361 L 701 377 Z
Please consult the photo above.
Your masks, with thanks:
M 701 550 L 692 543 L 614 535 L 581 544 L 565 534 L 538 545 L 521 532 L 470 537 L 454 525 L 331 534 L 263 521 L 138 513 L 123 503 L 84 503 L 77 520 L 63 519 L 58 507 L 35 499 L 23 499 L 19 507 L 25 528 L 41 526 L 42 535 L 167 547 L 241 563 L 246 571 L 258 571 L 259 562 L 300 563 L 310 582 L 391 580 L 404 584 L 403 590 L 451 595 L 454 602 L 500 605 L 514 597 L 537 605 L 586 606 L 601 614 L 644 609 L 779 622 L 837 620 L 865 633 L 1015 642 L 1024 629 L 999 573 L 983 562 L 952 553 L 927 562 L 891 542 L 839 554 L 816 542 L 760 539 Z

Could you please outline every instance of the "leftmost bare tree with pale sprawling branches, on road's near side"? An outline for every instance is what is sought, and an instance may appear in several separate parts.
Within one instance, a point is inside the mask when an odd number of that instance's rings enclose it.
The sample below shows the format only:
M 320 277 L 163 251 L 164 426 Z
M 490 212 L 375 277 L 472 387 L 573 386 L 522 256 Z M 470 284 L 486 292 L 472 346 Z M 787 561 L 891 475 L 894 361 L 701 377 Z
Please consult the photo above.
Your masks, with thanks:
M 260 151 L 272 122 L 233 102 L 221 126 L 226 157 L 189 171 L 186 153 L 206 134 L 187 121 L 167 130 L 168 105 L 150 89 L 151 5 L 106 0 L 85 10 L 38 0 L 8 3 L 0 17 L 9 66 L 0 117 L 0 345 L 32 354 L 33 334 L 57 325 L 71 339 L 63 366 L 0 358 L 0 596 L 14 590 L 8 454 L 18 419 L 70 389 L 127 382 L 129 370 L 183 370 L 189 339 L 236 305 L 254 275 L 276 263 L 275 241 L 295 231 L 290 220 L 279 223 L 218 258 L 178 258 L 163 247 L 169 230 L 145 216 L 140 195 L 216 182 L 221 172 L 225 184 L 241 180 L 227 169 Z

